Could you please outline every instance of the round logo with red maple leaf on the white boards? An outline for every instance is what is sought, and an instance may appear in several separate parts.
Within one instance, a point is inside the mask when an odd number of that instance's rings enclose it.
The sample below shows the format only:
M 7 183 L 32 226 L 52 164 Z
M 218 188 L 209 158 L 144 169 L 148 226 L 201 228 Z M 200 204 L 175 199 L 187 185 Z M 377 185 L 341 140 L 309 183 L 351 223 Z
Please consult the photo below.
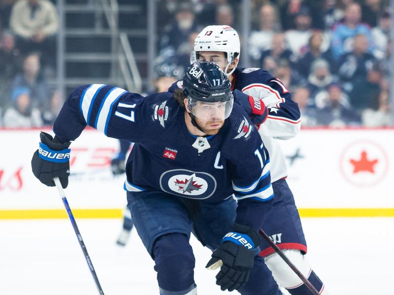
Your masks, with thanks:
M 386 175 L 389 160 L 382 147 L 369 140 L 345 148 L 340 159 L 343 177 L 358 187 L 378 184 Z

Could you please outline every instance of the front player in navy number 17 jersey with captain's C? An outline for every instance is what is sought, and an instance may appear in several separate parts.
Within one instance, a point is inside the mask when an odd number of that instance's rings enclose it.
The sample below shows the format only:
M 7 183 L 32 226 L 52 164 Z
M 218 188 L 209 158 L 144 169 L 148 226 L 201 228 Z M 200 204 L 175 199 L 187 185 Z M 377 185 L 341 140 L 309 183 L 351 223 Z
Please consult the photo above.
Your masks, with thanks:
M 269 155 L 233 101 L 230 81 L 212 62 L 189 66 L 175 93 L 143 97 L 109 85 L 78 87 L 54 123 L 55 137 L 40 133 L 33 173 L 48 186 L 59 177 L 66 187 L 69 145 L 86 125 L 134 142 L 126 164 L 128 206 L 155 261 L 160 294 L 197 294 L 192 231 L 213 250 L 207 267 L 220 266 L 222 290 L 281 294 L 258 255 L 261 212 L 274 199 Z

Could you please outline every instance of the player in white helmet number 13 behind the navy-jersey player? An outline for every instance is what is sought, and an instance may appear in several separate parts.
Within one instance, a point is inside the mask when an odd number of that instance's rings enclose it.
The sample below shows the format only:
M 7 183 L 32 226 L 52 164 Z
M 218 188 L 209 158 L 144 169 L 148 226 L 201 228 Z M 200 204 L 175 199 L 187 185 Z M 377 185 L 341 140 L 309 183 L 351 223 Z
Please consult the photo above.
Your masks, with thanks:
M 303 273 L 314 287 L 324 295 L 328 292 L 305 259 L 306 241 L 301 227 L 293 194 L 286 183 L 287 170 L 277 139 L 290 139 L 300 129 L 300 112 L 283 83 L 260 68 L 237 68 L 240 42 L 237 32 L 229 26 L 208 26 L 195 39 L 191 62 L 213 61 L 231 82 L 231 89 L 248 94 L 255 102 L 253 111 L 268 109 L 268 116 L 260 125 L 259 133 L 271 159 L 271 181 L 275 193 L 273 204 L 266 203 L 260 211 L 263 230 Z M 169 90 L 182 87 L 178 82 Z M 288 267 L 266 241 L 261 244 L 260 255 L 271 270 L 279 286 L 292 295 L 308 295 L 311 291 Z

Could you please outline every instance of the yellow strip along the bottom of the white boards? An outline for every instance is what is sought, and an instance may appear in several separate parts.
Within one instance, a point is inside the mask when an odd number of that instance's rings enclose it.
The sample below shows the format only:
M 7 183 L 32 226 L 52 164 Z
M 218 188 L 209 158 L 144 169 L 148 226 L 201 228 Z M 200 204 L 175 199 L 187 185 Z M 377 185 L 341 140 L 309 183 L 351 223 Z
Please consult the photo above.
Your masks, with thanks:
M 75 218 L 121 218 L 123 209 L 72 209 Z M 394 208 L 299 208 L 308 217 L 394 217 Z M 63 219 L 65 209 L 0 210 L 1 219 Z

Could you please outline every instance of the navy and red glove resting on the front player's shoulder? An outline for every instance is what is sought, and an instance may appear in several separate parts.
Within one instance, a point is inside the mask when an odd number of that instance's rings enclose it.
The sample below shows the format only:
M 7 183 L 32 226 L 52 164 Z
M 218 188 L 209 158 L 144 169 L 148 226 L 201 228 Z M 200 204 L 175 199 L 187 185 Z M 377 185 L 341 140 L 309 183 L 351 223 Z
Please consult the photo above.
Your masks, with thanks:
M 263 100 L 254 98 L 239 90 L 234 90 L 234 99 L 248 113 L 252 123 L 256 126 L 262 124 L 268 116 L 268 109 L 265 107 Z

